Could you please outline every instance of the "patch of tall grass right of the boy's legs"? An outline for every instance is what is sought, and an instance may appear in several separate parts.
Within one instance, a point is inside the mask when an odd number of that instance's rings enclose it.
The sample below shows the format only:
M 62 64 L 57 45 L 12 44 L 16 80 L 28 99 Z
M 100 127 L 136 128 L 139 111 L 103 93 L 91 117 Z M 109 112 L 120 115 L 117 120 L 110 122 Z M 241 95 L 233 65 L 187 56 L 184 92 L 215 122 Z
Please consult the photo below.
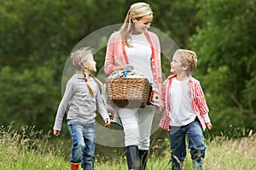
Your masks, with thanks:
M 254 136 L 241 139 L 216 137 L 208 144 L 206 169 L 256 169 L 256 140 Z

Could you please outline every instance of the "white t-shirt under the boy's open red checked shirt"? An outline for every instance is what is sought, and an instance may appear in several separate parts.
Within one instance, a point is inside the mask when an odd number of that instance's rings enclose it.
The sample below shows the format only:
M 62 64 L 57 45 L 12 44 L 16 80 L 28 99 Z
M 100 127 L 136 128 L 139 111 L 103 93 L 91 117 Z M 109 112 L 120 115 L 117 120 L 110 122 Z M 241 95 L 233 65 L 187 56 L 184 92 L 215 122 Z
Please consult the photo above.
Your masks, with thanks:
M 189 78 L 183 81 L 173 78 L 170 95 L 170 124 L 180 127 L 195 121 L 196 114 L 189 97 Z

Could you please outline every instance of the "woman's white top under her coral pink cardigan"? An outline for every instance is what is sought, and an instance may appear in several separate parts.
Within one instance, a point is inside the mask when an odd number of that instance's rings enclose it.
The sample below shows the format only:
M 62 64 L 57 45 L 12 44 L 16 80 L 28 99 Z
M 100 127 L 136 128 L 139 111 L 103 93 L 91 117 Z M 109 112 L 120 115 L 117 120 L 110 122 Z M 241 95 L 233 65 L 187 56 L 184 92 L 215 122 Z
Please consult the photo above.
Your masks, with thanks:
M 125 46 L 129 64 L 133 66 L 137 74 L 143 74 L 153 80 L 150 61 L 152 50 L 147 38 L 144 34 L 131 35 L 131 41 L 129 43 L 132 46 L 131 48 Z

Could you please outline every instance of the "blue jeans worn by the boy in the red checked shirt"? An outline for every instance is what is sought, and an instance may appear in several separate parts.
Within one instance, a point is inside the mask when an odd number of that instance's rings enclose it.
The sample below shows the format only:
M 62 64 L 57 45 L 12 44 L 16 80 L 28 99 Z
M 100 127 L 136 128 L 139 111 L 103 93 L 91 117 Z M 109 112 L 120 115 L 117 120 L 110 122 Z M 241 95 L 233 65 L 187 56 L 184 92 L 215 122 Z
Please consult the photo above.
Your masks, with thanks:
M 171 158 L 172 169 L 180 169 L 180 164 L 186 157 L 186 138 L 189 139 L 191 159 L 194 163 L 201 165 L 202 159 L 205 157 L 207 145 L 204 144 L 204 137 L 201 126 L 197 119 L 194 122 L 182 127 L 171 127 L 169 138 L 171 142 Z

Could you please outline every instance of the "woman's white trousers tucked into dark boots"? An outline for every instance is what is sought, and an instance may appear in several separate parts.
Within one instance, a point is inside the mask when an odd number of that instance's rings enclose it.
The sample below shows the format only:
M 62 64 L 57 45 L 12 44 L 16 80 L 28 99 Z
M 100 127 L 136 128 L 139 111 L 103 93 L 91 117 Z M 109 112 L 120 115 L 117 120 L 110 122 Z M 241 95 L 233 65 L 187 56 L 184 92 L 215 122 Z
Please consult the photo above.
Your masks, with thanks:
M 125 146 L 137 145 L 139 150 L 148 150 L 154 107 L 146 105 L 141 109 L 119 108 L 118 112 L 124 127 Z

